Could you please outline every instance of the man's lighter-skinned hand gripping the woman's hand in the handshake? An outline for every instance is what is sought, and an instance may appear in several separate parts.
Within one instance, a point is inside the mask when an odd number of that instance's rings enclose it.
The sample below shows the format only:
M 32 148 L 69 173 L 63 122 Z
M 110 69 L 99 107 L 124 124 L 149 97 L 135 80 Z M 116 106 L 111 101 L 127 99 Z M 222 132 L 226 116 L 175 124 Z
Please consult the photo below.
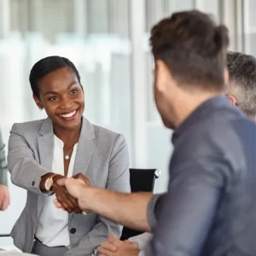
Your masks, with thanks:
M 90 185 L 90 181 L 82 173 L 79 173 L 74 177 L 60 178 L 57 180 L 56 184 L 61 189 L 65 189 L 65 190 L 67 189 L 68 196 L 74 198 L 75 201 L 78 203 L 78 207 L 79 207 L 79 201 L 78 201 L 79 195 L 81 191 L 84 189 L 84 187 Z M 68 210 L 67 204 L 65 203 L 65 201 L 62 201 L 61 199 L 61 195 L 59 198 L 56 196 L 55 206 L 58 208 L 62 208 L 66 211 Z M 79 211 L 77 211 L 76 213 L 82 212 L 80 208 L 81 207 L 79 207 Z

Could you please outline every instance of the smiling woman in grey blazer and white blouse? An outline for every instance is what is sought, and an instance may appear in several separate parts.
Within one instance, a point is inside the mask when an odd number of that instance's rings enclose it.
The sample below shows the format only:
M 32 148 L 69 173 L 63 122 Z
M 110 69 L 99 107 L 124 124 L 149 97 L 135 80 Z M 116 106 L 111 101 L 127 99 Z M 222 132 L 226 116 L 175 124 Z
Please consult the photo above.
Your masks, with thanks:
M 120 236 L 122 227 L 92 212 L 78 214 L 77 201 L 56 181 L 81 172 L 85 182 L 84 175 L 98 187 L 129 192 L 125 139 L 83 117 L 84 89 L 78 70 L 66 58 L 38 61 L 30 84 L 34 101 L 48 118 L 15 124 L 10 133 L 11 179 L 27 190 L 26 207 L 11 236 L 25 253 L 91 255 L 108 234 Z M 55 208 L 55 197 L 71 213 Z

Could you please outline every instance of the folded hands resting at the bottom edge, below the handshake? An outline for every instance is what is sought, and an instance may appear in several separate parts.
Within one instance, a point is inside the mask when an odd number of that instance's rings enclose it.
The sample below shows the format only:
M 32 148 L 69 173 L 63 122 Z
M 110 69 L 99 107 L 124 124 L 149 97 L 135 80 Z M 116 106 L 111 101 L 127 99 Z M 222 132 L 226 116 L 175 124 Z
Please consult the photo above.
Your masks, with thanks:
M 103 241 L 97 248 L 100 256 L 137 256 L 140 253 L 136 241 L 120 241 L 116 236 L 108 236 L 108 241 Z

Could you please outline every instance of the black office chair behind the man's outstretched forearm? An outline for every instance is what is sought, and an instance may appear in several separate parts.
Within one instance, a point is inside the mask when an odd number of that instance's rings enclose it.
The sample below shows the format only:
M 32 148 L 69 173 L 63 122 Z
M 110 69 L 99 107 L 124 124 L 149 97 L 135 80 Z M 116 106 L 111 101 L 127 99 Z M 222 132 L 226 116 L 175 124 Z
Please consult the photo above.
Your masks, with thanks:
M 160 177 L 160 170 L 158 169 L 130 169 L 131 192 L 154 193 L 155 180 L 158 177 Z M 126 240 L 140 234 L 143 234 L 143 232 L 124 227 L 120 239 Z

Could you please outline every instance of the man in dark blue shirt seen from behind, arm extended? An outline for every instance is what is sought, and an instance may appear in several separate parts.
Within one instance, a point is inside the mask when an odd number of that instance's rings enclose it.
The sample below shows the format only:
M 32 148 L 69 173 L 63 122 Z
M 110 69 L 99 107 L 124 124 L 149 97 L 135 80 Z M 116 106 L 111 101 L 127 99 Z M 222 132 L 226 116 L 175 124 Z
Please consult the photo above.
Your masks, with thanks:
M 175 130 L 168 192 L 122 194 L 72 178 L 60 183 L 83 211 L 151 230 L 146 255 L 254 255 L 256 126 L 223 96 L 227 29 L 185 11 L 154 26 L 150 43 L 156 106 Z

